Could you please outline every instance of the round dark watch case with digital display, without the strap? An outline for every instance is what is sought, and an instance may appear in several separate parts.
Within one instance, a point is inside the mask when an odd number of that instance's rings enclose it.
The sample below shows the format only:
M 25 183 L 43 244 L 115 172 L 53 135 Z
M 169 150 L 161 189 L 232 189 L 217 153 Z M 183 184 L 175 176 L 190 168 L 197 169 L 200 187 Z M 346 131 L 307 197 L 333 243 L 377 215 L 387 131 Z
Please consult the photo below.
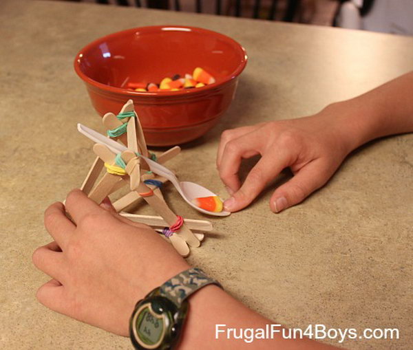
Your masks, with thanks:
M 129 331 L 136 349 L 171 349 L 180 336 L 187 300 L 178 307 L 157 293 L 158 288 L 140 300 L 131 316 Z

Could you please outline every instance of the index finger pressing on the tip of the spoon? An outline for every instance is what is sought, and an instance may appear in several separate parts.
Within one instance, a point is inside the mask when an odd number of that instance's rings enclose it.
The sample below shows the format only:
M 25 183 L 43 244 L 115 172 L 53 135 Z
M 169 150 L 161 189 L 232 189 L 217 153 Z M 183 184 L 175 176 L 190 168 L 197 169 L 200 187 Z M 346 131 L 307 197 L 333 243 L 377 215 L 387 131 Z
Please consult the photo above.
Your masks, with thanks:
M 248 173 L 241 188 L 231 198 L 224 201 L 224 209 L 235 212 L 251 204 L 251 201 L 261 193 L 266 184 L 289 165 L 288 160 L 288 154 L 285 152 L 280 152 L 277 155 L 274 153 L 264 155 Z

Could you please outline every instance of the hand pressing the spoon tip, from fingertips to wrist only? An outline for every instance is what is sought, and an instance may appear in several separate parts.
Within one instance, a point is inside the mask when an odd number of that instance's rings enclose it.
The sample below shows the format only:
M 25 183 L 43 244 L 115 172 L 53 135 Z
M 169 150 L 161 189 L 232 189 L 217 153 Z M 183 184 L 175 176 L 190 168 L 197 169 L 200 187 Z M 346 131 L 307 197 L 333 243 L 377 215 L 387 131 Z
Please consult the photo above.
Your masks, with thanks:
M 306 118 L 224 131 L 217 166 L 232 195 L 224 208 L 231 212 L 245 208 L 287 167 L 294 177 L 275 190 L 270 208 L 280 212 L 303 201 L 326 184 L 352 150 L 343 135 L 328 108 Z M 241 185 L 237 173 L 242 159 L 257 154 L 262 155 L 261 159 Z

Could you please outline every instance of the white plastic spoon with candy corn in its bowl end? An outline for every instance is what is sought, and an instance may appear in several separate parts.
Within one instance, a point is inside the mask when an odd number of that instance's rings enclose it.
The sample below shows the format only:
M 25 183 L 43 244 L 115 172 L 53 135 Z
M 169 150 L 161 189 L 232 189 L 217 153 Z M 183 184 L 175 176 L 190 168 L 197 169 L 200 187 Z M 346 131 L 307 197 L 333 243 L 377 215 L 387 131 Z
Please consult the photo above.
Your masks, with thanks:
M 83 124 L 78 124 L 78 131 L 94 142 L 105 144 L 105 146 L 107 146 L 114 153 L 122 153 L 127 151 L 127 148 L 122 144 L 105 137 L 93 129 L 85 127 Z M 143 155 L 139 155 L 139 157 L 147 162 L 153 173 L 169 179 L 173 186 L 175 186 L 176 190 L 178 190 L 178 193 L 184 201 L 186 201 L 192 208 L 198 210 L 199 212 L 203 212 L 204 214 L 215 215 L 218 217 L 225 217 L 231 214 L 231 212 L 222 210 L 222 201 L 220 197 L 207 188 L 195 184 L 194 182 L 180 182 L 165 166 L 153 162 L 153 160 L 150 160 Z

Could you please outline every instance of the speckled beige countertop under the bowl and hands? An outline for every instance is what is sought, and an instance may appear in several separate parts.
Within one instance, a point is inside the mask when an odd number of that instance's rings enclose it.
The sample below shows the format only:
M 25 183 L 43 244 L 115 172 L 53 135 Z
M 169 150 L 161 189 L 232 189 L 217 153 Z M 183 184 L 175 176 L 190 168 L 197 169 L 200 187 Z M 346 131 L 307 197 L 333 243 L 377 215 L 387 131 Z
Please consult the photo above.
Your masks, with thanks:
M 50 241 L 43 210 L 80 186 L 94 159 L 76 122 L 101 129 L 72 67 L 76 52 L 105 34 L 153 24 L 216 30 L 248 52 L 237 96 L 222 122 L 169 163 L 182 179 L 208 184 L 222 195 L 215 151 L 224 129 L 315 113 L 413 68 L 408 37 L 92 4 L 1 1 L 0 349 L 131 349 L 127 338 L 37 303 L 36 289 L 48 278 L 33 267 L 31 256 Z M 189 262 L 246 305 L 290 327 L 398 328 L 400 340 L 343 345 L 412 349 L 412 169 L 413 135 L 372 142 L 299 206 L 274 215 L 270 188 L 246 210 L 211 219 L 215 234 L 193 249 Z M 170 187 L 166 195 L 185 217 L 202 217 Z

